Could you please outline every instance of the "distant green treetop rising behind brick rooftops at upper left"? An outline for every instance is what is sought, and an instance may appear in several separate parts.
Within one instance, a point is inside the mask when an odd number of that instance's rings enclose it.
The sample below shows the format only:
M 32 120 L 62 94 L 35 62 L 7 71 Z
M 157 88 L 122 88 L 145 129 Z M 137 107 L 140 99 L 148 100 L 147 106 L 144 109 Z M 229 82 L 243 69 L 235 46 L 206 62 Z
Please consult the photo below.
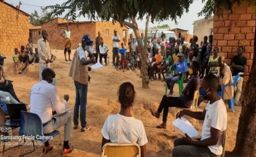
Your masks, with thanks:
M 53 16 L 48 11 L 45 11 L 41 16 L 39 16 L 38 12 L 36 10 L 34 10 L 34 13 L 31 13 L 31 15 L 29 17 L 29 21 L 34 26 L 40 26 L 44 22 L 47 22 L 47 21 L 52 20 L 54 18 L 55 18 L 55 16 Z

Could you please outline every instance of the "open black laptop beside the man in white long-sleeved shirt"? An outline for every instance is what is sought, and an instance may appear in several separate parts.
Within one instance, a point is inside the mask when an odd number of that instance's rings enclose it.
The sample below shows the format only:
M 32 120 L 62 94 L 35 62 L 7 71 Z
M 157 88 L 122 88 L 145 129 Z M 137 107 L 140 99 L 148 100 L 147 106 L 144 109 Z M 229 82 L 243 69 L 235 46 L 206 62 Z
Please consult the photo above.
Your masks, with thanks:
M 20 111 L 27 111 L 25 104 L 6 104 L 10 119 L 5 122 L 5 126 L 15 127 L 20 126 L 21 116 Z

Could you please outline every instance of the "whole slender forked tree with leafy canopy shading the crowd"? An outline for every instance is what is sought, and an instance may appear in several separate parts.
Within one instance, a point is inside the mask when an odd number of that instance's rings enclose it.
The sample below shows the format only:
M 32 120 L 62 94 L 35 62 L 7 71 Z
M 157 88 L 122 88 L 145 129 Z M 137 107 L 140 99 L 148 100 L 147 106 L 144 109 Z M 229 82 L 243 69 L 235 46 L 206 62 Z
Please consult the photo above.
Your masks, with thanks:
M 184 12 L 188 12 L 193 0 L 67 0 L 61 5 L 48 6 L 44 10 L 51 9 L 54 15 L 62 15 L 65 11 L 66 18 L 76 20 L 77 17 L 87 16 L 91 19 L 118 21 L 133 29 L 141 52 L 142 87 L 149 88 L 147 76 L 147 42 L 144 47 L 140 40 L 137 20 L 147 17 L 148 22 L 171 19 L 176 21 Z M 145 35 L 147 41 L 147 35 Z

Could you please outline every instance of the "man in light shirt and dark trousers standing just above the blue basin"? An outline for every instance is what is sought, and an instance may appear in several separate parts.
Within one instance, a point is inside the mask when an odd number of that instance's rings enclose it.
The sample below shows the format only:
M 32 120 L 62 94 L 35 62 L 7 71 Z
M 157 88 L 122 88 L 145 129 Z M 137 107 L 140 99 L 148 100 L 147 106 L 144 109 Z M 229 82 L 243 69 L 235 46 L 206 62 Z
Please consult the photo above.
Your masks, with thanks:
M 117 61 L 119 61 L 120 56 L 119 56 L 119 42 L 120 42 L 120 38 L 117 35 L 117 30 L 114 30 L 114 36 L 113 36 L 113 66 L 116 66 L 118 63 Z

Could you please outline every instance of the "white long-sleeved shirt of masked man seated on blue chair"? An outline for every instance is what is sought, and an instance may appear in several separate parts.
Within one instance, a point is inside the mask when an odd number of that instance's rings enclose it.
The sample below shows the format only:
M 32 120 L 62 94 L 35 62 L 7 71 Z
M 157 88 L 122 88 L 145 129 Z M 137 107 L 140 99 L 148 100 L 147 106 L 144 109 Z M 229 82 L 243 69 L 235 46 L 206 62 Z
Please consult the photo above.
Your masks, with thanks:
M 45 80 L 34 85 L 30 92 L 30 112 L 36 113 L 42 123 L 46 123 L 52 119 L 52 109 L 60 114 L 65 110 L 67 101 L 61 103 L 58 96 L 58 90 L 54 85 L 51 85 Z

